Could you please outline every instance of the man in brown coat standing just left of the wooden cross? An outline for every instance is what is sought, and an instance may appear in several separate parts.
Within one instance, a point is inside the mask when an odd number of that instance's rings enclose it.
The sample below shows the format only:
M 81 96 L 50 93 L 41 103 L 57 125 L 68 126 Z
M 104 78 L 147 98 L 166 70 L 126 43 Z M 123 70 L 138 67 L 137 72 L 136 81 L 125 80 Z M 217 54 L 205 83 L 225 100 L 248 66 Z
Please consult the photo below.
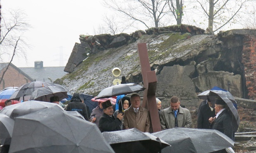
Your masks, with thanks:
M 140 106 L 140 96 L 137 93 L 130 97 L 132 105 L 124 110 L 124 129 L 136 128 L 142 132 L 150 131 L 149 111 Z

